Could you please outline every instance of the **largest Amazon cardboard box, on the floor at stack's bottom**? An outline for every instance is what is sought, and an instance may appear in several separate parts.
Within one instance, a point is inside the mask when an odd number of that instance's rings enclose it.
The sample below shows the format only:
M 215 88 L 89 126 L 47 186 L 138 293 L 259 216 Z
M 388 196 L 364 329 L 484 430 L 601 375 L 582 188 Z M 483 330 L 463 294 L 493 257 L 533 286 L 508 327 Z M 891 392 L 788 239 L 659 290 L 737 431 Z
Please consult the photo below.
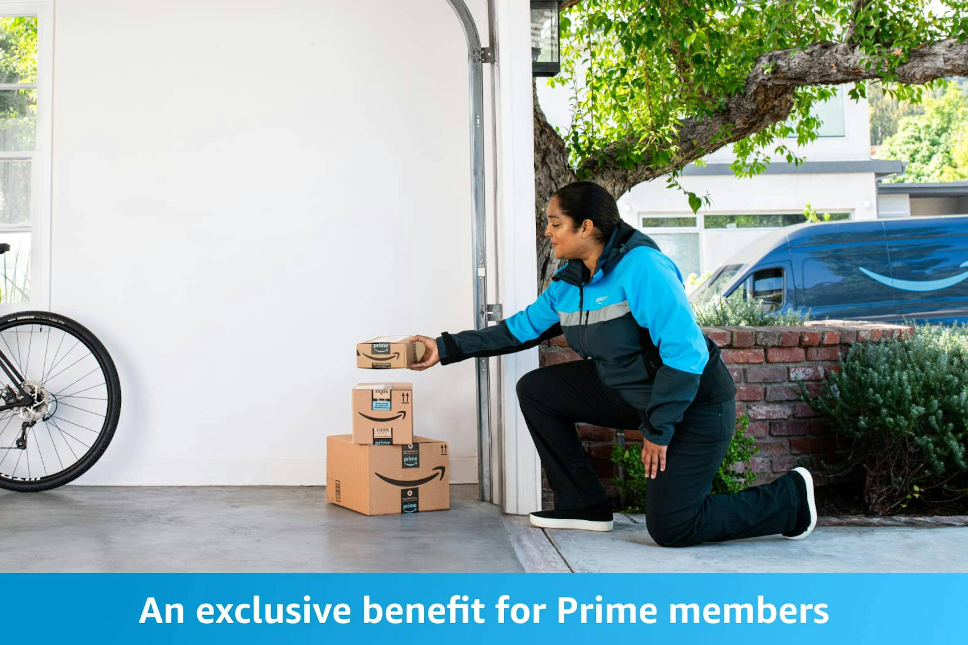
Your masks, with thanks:
M 449 509 L 447 442 L 416 436 L 407 446 L 364 446 L 331 434 L 326 500 L 366 515 Z

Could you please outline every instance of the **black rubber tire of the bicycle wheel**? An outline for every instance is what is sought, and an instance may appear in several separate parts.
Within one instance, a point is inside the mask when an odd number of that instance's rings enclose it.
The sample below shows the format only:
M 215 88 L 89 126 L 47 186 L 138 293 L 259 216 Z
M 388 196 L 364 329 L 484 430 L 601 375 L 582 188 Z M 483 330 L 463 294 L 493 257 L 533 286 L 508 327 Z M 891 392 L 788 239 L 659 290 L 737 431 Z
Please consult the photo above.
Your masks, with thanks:
M 91 466 L 93 466 L 98 459 L 105 454 L 107 446 L 114 437 L 114 432 L 117 429 L 118 420 L 121 415 L 121 383 L 118 379 L 117 368 L 114 366 L 114 362 L 111 360 L 110 354 L 107 352 L 104 344 L 90 330 L 78 323 L 76 320 L 68 318 L 67 316 L 52 313 L 50 311 L 18 311 L 16 313 L 0 316 L 0 336 L 2 336 L 4 332 L 9 332 L 10 330 L 22 325 L 36 325 L 39 330 L 41 327 L 49 327 L 54 330 L 60 330 L 65 335 L 75 337 L 90 351 L 91 355 L 94 356 L 105 378 L 105 382 L 103 384 L 106 390 L 106 414 L 104 415 L 104 423 L 98 434 L 98 437 L 93 441 L 89 449 L 76 459 L 76 462 L 56 473 L 51 473 L 43 477 L 26 479 L 5 475 L 3 473 L 3 469 L 0 468 L 0 488 L 14 490 L 16 492 L 40 492 L 42 490 L 49 490 L 51 488 L 56 488 L 58 486 L 73 482 L 87 472 Z M 27 332 L 30 333 L 29 327 Z M 28 362 L 29 359 L 30 356 L 28 353 Z M 25 370 L 23 371 L 23 375 L 25 377 L 27 376 Z M 5 380 L 9 379 L 5 377 Z M 45 383 L 42 383 L 42 385 L 45 385 Z M 13 421 L 13 418 L 14 417 L 12 416 L 11 421 Z M 56 423 L 54 423 L 54 425 L 56 425 Z M 58 429 L 60 428 L 58 427 Z M 35 438 L 36 434 L 37 433 L 35 432 Z M 53 441 L 52 437 L 51 441 Z M 25 453 L 26 451 L 23 452 Z M 60 457 L 58 456 L 58 459 L 59 458 Z

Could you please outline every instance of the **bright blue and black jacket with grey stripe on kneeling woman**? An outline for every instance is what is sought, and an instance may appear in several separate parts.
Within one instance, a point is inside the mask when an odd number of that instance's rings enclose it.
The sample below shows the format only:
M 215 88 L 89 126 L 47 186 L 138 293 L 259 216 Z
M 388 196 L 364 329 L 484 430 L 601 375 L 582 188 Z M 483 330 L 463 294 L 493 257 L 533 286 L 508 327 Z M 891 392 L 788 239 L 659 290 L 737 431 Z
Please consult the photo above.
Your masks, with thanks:
M 639 412 L 643 435 L 666 446 L 690 405 L 736 396 L 719 348 L 696 322 L 676 264 L 625 222 L 593 275 L 569 260 L 538 299 L 479 331 L 437 338 L 440 363 L 528 349 L 564 334 L 602 382 Z

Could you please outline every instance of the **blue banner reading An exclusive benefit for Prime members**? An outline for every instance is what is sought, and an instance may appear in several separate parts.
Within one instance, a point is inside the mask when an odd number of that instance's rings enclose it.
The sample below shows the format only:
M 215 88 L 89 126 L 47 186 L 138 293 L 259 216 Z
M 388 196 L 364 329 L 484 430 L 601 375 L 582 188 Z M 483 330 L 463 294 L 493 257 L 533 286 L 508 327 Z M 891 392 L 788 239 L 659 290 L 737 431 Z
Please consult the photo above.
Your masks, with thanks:
M 968 575 L 8 573 L 9 636 L 72 643 L 948 641 Z M 441 640 L 442 639 L 442 640 Z M 17 641 L 14 641 L 17 642 Z M 26 640 L 22 641 L 26 642 Z M 552 641 L 549 641 L 552 642 Z

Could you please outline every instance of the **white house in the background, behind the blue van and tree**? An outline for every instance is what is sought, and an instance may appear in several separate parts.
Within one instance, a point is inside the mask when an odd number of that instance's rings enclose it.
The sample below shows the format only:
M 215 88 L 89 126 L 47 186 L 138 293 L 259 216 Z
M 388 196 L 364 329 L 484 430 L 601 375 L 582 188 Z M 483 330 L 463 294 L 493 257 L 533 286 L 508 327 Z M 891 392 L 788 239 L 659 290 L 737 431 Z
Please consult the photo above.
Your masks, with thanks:
M 566 91 L 542 86 L 538 94 L 552 124 L 567 129 Z M 806 204 L 821 215 L 876 219 L 876 179 L 902 166 L 871 159 L 866 100 L 854 102 L 838 92 L 818 108 L 818 116 L 824 121 L 820 138 L 805 146 L 791 138 L 788 144 L 805 163 L 777 158 L 765 173 L 740 179 L 729 167 L 735 157 L 726 147 L 707 157 L 704 166 L 683 169 L 681 186 L 708 194 L 709 206 L 693 214 L 685 195 L 667 188 L 660 177 L 620 197 L 622 218 L 649 234 L 676 261 L 683 278 L 715 269 L 778 226 L 803 221 Z

